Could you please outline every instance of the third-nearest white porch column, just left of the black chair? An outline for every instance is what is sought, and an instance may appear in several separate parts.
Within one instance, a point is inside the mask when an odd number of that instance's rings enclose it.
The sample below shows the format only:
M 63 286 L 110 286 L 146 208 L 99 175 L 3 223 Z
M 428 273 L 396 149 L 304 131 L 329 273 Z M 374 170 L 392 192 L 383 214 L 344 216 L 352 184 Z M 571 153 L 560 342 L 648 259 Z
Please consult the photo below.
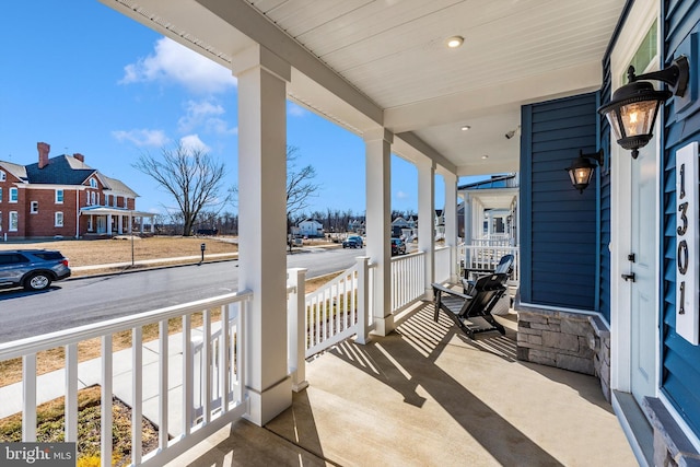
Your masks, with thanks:
M 418 167 L 418 250 L 425 252 L 425 299 L 433 299 L 435 281 L 435 163 L 419 161 Z

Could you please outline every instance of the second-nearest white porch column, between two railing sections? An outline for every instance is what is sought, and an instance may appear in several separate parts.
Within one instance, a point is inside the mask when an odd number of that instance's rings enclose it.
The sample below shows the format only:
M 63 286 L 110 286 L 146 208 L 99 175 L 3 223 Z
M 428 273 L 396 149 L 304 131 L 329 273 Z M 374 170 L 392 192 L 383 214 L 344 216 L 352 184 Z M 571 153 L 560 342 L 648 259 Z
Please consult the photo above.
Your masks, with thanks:
M 366 151 L 366 253 L 377 268 L 374 273 L 375 332 L 394 330 L 392 314 L 392 142 L 384 128 L 364 133 Z

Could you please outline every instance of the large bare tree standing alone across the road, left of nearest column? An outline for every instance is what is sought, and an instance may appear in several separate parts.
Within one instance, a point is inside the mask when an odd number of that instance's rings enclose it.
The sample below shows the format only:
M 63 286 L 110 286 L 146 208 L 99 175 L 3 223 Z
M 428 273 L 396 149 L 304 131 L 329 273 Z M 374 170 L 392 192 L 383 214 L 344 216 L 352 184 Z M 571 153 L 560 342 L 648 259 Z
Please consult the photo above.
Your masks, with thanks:
M 203 208 L 223 207 L 228 201 L 219 198 L 225 170 L 200 149 L 177 144 L 163 148 L 162 156 L 143 153 L 133 167 L 151 176 L 177 202 L 183 215 L 183 235 L 192 234 L 197 215 Z

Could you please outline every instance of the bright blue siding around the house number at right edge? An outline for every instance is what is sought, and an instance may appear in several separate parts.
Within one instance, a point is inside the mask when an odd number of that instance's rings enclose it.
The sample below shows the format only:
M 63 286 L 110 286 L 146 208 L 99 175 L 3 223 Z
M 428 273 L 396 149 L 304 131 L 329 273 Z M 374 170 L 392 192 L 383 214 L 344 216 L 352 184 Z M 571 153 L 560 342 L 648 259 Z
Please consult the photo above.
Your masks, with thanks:
M 668 66 L 678 52 L 687 52 L 691 34 L 700 34 L 700 4 L 690 0 L 664 3 L 664 61 Z M 697 37 L 696 37 L 697 40 Z M 697 48 L 696 48 L 697 50 Z M 698 83 L 699 57 L 689 57 L 691 80 Z M 692 74 L 695 73 L 695 77 Z M 664 108 L 663 153 L 663 245 L 662 252 L 662 390 L 696 435 L 700 436 L 700 347 L 675 332 L 676 327 L 676 151 L 700 139 L 700 106 L 692 103 L 679 113 L 675 100 Z M 698 260 L 695 258 L 693 260 Z

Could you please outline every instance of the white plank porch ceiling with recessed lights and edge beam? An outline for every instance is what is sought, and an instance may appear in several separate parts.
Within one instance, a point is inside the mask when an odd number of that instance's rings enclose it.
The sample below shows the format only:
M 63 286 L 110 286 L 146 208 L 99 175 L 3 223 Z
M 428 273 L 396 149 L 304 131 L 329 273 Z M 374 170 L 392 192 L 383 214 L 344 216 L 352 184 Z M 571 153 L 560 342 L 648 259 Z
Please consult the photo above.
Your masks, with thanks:
M 395 152 L 458 175 L 517 171 L 520 106 L 599 87 L 625 3 L 101 1 L 226 67 L 259 43 L 291 63 L 290 100 L 359 135 L 383 125 Z

